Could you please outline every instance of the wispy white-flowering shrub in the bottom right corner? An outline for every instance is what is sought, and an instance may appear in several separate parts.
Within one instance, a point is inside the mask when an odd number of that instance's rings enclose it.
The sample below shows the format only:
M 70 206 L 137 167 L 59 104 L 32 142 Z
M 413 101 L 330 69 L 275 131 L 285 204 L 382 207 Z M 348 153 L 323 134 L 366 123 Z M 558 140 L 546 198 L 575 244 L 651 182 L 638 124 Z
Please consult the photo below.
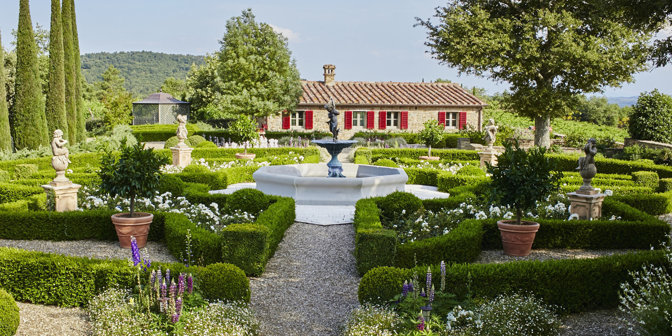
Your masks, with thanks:
M 653 249 L 653 248 L 652 248 Z M 672 251 L 665 247 L 667 264 L 672 264 Z M 620 310 L 628 313 L 622 319 L 630 330 L 642 335 L 672 335 L 672 270 L 648 265 L 630 272 L 632 281 L 621 284 Z

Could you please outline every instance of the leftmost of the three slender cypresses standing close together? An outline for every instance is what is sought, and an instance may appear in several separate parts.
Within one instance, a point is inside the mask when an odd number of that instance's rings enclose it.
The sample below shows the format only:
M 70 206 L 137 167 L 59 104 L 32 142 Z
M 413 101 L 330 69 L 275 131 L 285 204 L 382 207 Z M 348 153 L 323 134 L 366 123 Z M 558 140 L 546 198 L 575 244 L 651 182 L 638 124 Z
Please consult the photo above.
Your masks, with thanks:
M 49 91 L 46 95 L 46 124 L 49 132 L 62 130 L 68 138 L 65 114 L 65 68 L 63 66 L 63 29 L 60 0 L 51 0 L 51 32 L 49 34 Z

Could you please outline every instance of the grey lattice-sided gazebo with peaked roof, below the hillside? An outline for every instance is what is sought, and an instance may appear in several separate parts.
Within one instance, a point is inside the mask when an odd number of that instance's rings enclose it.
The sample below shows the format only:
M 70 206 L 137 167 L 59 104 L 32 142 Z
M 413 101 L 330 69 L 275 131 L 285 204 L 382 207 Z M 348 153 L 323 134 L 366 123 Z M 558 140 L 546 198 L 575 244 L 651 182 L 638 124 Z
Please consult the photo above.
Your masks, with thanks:
M 152 93 L 133 103 L 133 124 L 175 124 L 177 115 L 189 119 L 190 103 L 176 99 L 169 93 Z

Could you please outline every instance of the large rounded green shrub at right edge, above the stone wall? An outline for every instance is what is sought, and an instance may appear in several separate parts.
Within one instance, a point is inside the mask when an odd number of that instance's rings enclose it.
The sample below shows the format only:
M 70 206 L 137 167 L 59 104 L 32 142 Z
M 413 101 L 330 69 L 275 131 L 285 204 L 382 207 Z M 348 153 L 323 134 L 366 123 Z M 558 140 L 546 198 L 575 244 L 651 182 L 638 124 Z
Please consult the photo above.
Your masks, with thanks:
M 638 140 L 672 143 L 672 97 L 658 89 L 642 93 L 632 106 L 628 132 Z

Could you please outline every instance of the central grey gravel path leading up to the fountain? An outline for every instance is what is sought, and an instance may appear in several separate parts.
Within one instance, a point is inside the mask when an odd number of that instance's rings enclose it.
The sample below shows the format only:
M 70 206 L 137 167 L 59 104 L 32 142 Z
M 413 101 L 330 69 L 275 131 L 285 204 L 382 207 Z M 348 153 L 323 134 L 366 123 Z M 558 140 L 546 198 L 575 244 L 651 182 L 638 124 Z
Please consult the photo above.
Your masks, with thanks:
M 262 335 L 339 335 L 345 315 L 358 305 L 352 225 L 295 223 L 250 282 L 251 308 Z

